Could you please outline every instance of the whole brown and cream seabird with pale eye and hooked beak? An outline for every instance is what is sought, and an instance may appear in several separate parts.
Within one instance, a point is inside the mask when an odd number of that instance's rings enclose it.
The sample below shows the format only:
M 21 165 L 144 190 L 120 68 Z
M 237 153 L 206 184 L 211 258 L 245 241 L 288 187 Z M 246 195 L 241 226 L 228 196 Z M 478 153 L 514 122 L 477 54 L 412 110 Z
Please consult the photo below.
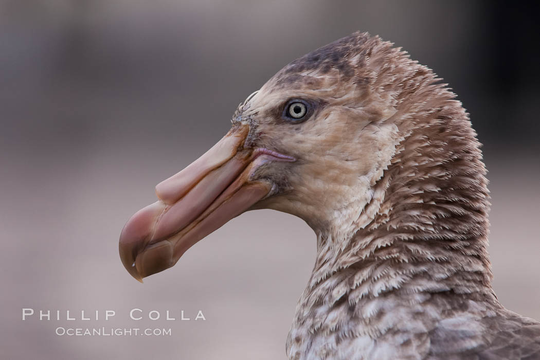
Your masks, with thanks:
M 540 323 L 491 286 L 481 144 L 456 94 L 355 32 L 286 65 L 124 226 L 137 280 L 247 210 L 298 216 L 317 255 L 289 359 L 540 359 Z

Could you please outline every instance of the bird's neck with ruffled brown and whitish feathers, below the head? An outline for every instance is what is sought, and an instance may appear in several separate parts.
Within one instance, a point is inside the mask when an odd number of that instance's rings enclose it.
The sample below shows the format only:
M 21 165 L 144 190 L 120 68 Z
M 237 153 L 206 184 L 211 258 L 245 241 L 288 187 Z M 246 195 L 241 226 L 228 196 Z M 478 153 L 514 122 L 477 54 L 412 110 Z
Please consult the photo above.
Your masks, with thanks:
M 354 209 L 360 213 L 354 232 L 340 233 L 339 223 L 316 229 L 318 256 L 299 306 L 359 308 L 434 294 L 497 303 L 485 166 L 457 104 L 410 127 L 371 189 L 372 200 Z

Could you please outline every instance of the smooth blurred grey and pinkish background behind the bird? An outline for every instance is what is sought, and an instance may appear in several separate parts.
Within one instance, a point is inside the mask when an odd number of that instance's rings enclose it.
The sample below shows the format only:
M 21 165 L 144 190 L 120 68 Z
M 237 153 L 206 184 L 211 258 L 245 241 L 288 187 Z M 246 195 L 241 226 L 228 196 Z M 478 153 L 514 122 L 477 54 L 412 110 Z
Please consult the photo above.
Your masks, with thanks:
M 434 69 L 470 112 L 490 172 L 494 287 L 539 319 L 535 14 L 470 1 L 1 1 L 3 357 L 285 358 L 315 259 L 301 220 L 244 214 L 144 285 L 122 267 L 118 236 L 159 181 L 227 132 L 248 94 L 356 30 Z M 117 315 L 23 322 L 22 308 Z M 207 320 L 133 322 L 132 308 L 203 310 Z M 67 337 L 58 326 L 172 336 Z

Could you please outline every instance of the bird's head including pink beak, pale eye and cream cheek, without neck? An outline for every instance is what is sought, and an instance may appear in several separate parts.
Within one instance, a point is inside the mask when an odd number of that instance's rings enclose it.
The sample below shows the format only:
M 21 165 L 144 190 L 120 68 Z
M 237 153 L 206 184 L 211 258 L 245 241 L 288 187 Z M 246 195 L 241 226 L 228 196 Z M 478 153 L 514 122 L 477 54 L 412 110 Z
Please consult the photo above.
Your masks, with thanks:
M 433 79 L 391 45 L 354 33 L 296 59 L 249 96 L 225 137 L 158 184 L 159 200 L 126 223 L 119 249 L 129 273 L 140 281 L 172 267 L 251 209 L 354 230 L 407 132 L 396 74 Z

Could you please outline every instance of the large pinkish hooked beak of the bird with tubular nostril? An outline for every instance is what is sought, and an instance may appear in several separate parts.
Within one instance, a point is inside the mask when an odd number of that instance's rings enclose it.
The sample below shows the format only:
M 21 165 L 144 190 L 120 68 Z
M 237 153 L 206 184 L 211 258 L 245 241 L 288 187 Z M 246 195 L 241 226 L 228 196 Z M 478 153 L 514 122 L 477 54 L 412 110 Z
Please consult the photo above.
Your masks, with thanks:
M 139 210 L 120 234 L 120 259 L 137 280 L 172 267 L 197 241 L 245 212 L 271 190 L 250 181 L 262 161 L 244 142 L 249 127 L 232 128 L 185 169 L 156 186 L 159 201 Z

